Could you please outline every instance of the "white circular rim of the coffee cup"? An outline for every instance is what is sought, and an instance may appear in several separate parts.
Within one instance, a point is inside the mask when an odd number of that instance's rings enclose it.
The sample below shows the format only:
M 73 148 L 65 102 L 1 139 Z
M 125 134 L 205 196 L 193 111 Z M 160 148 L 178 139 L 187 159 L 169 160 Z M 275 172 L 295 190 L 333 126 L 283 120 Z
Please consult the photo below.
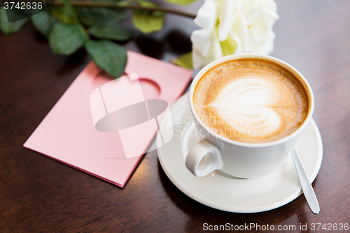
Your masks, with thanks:
M 241 141 L 233 141 L 232 139 L 228 139 L 225 136 L 221 136 L 219 134 L 216 134 L 216 132 L 209 129 L 209 127 L 207 127 L 207 125 L 205 125 L 204 122 L 202 122 L 202 120 L 200 120 L 200 117 L 197 115 L 197 112 L 195 111 L 195 106 L 193 104 L 193 94 L 195 92 L 195 87 L 198 83 L 198 80 L 200 80 L 200 78 L 202 78 L 204 73 L 206 73 L 211 67 L 216 66 L 216 64 L 220 64 L 220 63 L 226 62 L 228 60 L 243 59 L 243 58 L 267 59 L 271 62 L 279 64 L 280 66 L 283 66 L 283 68 L 285 68 L 285 69 L 288 69 L 288 71 L 294 73 L 296 76 L 299 76 L 302 79 L 302 81 L 304 82 L 305 86 L 307 87 L 307 92 L 309 93 L 309 103 L 308 103 L 309 110 L 307 112 L 307 116 L 306 116 L 304 122 L 302 122 L 302 125 L 300 125 L 300 127 L 297 128 L 292 134 L 289 134 L 288 136 L 285 136 L 282 139 L 278 139 L 276 141 L 269 141 L 269 142 L 265 142 L 265 143 L 245 143 L 245 142 L 241 142 Z M 309 124 L 309 121 L 311 120 L 312 115 L 314 113 L 314 93 L 312 92 L 311 86 L 307 82 L 307 79 L 302 75 L 302 73 L 297 71 L 297 69 L 295 69 L 293 66 L 291 66 L 287 62 L 283 62 L 281 59 L 278 59 L 276 57 L 267 56 L 267 55 L 245 53 L 245 54 L 239 54 L 239 55 L 228 55 L 225 57 L 221 57 L 220 59 L 216 59 L 215 61 L 207 64 L 207 66 L 204 66 L 200 70 L 200 72 L 197 73 L 195 78 L 193 78 L 193 82 L 190 85 L 189 93 L 190 94 L 188 95 L 188 98 L 189 98 L 188 101 L 190 103 L 190 111 L 192 112 L 193 116 L 195 117 L 195 120 L 197 120 L 198 124 L 200 124 L 200 126 L 203 129 L 205 129 L 209 134 L 216 137 L 217 139 L 224 141 L 225 143 L 230 143 L 230 144 L 235 145 L 235 146 L 241 146 L 241 147 L 246 147 L 246 148 L 268 148 L 268 147 L 272 147 L 272 146 L 278 146 L 282 143 L 286 143 L 286 142 L 290 141 L 295 136 L 300 134 L 300 132 L 302 132 L 302 130 L 304 130 L 304 128 Z

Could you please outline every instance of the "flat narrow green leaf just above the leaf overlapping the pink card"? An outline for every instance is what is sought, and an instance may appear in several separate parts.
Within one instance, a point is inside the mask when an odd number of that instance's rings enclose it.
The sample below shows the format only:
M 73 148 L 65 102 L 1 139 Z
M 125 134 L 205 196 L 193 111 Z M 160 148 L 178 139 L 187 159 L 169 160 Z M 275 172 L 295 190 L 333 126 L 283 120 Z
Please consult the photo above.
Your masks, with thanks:
M 134 31 L 130 27 L 118 23 L 97 24 L 88 29 L 90 35 L 97 38 L 106 38 L 116 41 L 127 41 Z

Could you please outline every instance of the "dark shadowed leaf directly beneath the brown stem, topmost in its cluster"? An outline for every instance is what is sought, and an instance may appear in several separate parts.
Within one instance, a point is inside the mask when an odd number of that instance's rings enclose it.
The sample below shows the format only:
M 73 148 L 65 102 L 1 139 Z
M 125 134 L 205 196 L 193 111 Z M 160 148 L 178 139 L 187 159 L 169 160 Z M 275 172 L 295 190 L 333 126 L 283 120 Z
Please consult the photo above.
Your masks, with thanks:
M 103 22 L 118 22 L 128 17 L 127 12 L 122 9 L 109 9 L 101 7 L 77 8 L 80 22 L 86 26 L 93 26 Z

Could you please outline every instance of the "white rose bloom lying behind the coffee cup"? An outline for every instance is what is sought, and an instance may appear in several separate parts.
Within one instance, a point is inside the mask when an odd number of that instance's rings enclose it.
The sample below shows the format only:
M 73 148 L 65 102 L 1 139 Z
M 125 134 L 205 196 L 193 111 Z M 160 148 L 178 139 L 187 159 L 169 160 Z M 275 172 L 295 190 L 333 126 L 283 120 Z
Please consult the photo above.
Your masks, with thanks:
M 200 69 L 226 55 L 274 49 L 274 0 L 206 0 L 198 10 L 193 31 L 193 67 Z

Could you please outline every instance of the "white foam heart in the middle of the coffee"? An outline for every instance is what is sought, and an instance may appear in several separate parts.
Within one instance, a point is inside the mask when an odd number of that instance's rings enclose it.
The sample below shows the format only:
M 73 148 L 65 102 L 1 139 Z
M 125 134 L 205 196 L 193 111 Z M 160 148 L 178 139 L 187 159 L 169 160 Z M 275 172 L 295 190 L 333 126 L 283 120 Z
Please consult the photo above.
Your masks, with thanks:
M 280 118 L 273 106 L 279 90 L 273 83 L 257 78 L 235 80 L 221 90 L 209 106 L 235 133 L 267 136 L 279 129 Z

